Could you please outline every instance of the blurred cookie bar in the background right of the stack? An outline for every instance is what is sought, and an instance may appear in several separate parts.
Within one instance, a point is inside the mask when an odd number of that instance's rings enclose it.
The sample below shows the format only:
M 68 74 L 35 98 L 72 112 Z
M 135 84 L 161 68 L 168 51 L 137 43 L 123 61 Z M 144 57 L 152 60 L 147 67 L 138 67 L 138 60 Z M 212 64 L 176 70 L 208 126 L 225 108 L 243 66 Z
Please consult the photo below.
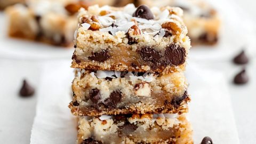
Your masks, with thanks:
M 219 39 L 220 18 L 217 11 L 203 0 L 139 0 L 150 6 L 178 6 L 184 11 L 183 20 L 192 44 L 215 44 Z

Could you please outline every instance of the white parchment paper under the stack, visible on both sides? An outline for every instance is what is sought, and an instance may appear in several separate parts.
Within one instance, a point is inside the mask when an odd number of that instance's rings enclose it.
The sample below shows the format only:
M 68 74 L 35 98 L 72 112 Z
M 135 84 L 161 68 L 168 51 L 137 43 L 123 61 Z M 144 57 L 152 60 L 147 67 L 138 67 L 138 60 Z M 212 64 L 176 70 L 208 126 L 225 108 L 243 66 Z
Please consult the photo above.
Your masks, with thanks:
M 57 64 L 58 68 L 55 67 Z M 74 75 L 68 64 L 69 61 L 59 61 L 42 65 L 31 144 L 68 144 L 76 140 L 75 117 L 67 107 L 71 97 L 70 82 Z M 201 142 L 206 135 L 215 143 L 239 143 L 223 75 L 190 63 L 187 77 L 191 84 L 190 121 L 194 127 L 195 143 Z M 49 85 L 53 79 L 54 87 Z

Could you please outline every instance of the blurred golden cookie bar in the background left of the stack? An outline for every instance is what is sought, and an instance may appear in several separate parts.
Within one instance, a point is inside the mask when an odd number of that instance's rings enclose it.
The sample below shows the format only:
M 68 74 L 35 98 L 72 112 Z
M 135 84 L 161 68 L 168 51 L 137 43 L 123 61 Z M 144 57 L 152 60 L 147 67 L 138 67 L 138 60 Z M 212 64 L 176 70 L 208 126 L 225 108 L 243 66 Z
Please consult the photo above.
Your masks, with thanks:
M 70 6 L 65 9 L 69 3 L 60 0 L 34 0 L 26 4 L 27 6 L 17 4 L 6 9 L 9 15 L 8 33 L 10 37 L 25 38 L 57 46 L 74 45 L 77 20 Z

